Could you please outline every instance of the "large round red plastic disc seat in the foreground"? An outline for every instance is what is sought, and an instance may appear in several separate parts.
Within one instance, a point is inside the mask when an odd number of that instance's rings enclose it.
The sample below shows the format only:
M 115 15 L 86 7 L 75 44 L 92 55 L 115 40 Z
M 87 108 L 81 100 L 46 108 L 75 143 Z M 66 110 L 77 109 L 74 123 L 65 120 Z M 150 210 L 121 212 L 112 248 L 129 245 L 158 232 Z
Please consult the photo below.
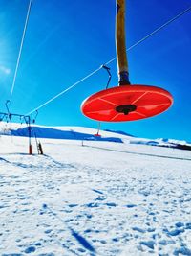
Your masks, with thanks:
M 82 103 L 81 111 L 96 121 L 123 122 L 158 115 L 172 104 L 172 95 L 162 88 L 122 85 L 88 97 Z

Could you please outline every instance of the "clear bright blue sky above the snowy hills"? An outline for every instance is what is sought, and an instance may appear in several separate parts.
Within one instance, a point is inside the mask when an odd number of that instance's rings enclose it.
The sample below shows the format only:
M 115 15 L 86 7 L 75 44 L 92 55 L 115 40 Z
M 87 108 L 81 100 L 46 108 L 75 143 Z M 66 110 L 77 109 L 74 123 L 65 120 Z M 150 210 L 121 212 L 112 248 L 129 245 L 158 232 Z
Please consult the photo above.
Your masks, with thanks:
M 0 0 L 0 111 L 11 93 L 29 0 Z M 189 7 L 181 0 L 127 0 L 127 47 Z M 33 0 L 11 111 L 26 114 L 116 56 L 115 0 Z M 174 96 L 159 116 L 126 123 L 102 123 L 141 137 L 191 141 L 191 12 L 128 53 L 130 81 L 158 85 Z M 110 64 L 111 86 L 117 63 Z M 85 126 L 97 123 L 80 112 L 81 102 L 104 89 L 107 74 L 77 85 L 39 111 L 37 123 Z

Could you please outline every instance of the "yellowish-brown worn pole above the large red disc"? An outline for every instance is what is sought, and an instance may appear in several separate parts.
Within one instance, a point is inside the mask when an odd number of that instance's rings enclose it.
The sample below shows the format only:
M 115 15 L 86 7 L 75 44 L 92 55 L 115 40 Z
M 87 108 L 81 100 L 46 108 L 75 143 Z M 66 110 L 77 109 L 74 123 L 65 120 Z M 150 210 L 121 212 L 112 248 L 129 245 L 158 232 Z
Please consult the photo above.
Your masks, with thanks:
M 125 43 L 125 0 L 116 0 L 116 48 L 118 85 L 129 85 L 129 70 Z

